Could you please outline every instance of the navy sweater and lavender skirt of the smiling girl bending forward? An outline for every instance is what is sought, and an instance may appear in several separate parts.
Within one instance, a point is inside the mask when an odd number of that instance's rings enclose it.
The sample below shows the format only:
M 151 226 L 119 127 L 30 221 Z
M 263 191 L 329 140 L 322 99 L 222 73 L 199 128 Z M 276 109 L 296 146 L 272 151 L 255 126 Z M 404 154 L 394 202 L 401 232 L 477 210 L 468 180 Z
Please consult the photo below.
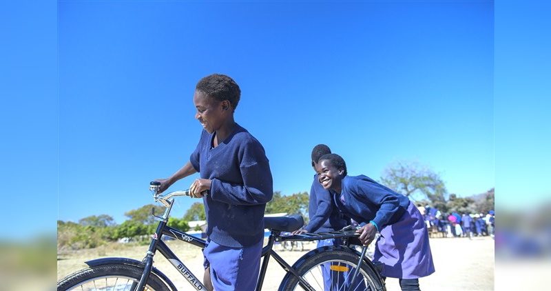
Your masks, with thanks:
M 344 215 L 365 225 L 373 221 L 381 234 L 373 261 L 384 277 L 418 279 L 435 272 L 424 217 L 408 197 L 364 175 L 342 179 L 335 203 Z

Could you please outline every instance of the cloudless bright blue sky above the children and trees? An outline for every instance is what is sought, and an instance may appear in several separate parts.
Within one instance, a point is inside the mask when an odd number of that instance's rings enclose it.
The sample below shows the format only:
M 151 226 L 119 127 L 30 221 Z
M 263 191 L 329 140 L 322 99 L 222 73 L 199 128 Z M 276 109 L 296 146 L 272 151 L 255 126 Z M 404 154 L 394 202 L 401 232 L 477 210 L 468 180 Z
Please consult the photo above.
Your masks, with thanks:
M 2 163 L 17 190 L 7 214 L 39 214 L 39 227 L 98 214 L 122 223 L 125 212 L 152 203 L 149 181 L 174 173 L 196 146 L 194 86 L 214 72 L 240 85 L 236 121 L 264 145 L 282 194 L 309 191 L 309 155 L 318 143 L 341 154 L 349 174 L 374 179 L 396 159 L 419 161 L 461 197 L 495 187 L 496 155 L 505 158 L 499 163 L 541 163 L 537 150 L 550 144 L 539 134 L 537 148 L 510 159 L 507 150 L 530 145 L 527 132 L 518 129 L 526 136 L 514 139 L 510 130 L 549 118 L 543 104 L 521 105 L 537 94 L 495 101 L 497 92 L 520 92 L 509 88 L 516 76 L 496 72 L 497 61 L 516 51 L 495 49 L 503 30 L 495 30 L 492 1 L 13 6 L 25 17 L 1 18 L 14 43 L 2 76 L 12 96 L 2 129 L 15 141 L 4 142 L 13 154 Z M 53 26 L 42 12 L 53 13 Z M 35 29 L 43 34 L 31 41 L 21 33 Z M 512 112 L 518 122 L 508 119 Z M 536 126 L 530 130 L 539 132 Z M 499 140 L 512 145 L 498 150 Z M 502 177 L 501 193 L 519 190 L 514 175 Z M 187 189 L 194 178 L 170 190 Z M 522 190 L 548 193 L 537 183 Z M 32 202 L 21 211 L 28 194 Z M 179 199 L 174 214 L 196 201 Z

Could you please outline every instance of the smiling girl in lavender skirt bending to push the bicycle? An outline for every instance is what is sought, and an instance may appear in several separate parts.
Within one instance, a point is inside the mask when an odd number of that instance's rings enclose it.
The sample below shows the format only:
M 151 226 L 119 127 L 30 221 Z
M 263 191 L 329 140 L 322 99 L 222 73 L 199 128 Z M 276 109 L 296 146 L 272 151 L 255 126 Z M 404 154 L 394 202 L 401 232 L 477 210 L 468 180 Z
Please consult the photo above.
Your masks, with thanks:
M 360 241 L 369 245 L 380 232 L 373 261 L 383 277 L 399 279 L 402 290 L 419 290 L 419 278 L 435 272 L 424 217 L 408 197 L 364 175 L 348 176 L 338 154 L 318 161 L 318 181 L 331 190 L 337 208 L 360 223 Z

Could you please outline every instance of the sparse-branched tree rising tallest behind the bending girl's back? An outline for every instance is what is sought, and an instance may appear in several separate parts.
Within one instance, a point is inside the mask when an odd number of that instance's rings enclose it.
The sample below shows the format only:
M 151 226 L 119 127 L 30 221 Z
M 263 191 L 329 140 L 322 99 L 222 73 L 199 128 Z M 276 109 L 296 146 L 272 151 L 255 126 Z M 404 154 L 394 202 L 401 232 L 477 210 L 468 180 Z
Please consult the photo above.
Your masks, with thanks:
M 426 197 L 435 207 L 446 204 L 444 181 L 439 174 L 422 167 L 416 161 L 395 161 L 384 170 L 381 183 L 410 199 L 414 196 L 419 199 Z

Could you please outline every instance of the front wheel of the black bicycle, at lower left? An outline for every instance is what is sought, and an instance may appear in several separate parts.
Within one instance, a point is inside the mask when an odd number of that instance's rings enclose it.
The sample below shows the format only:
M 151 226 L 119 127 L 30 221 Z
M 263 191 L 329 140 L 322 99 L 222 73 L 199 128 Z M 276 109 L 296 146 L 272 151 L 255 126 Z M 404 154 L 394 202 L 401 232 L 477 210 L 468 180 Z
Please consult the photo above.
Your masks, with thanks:
M 70 274 L 57 283 L 57 291 L 69 290 L 116 290 L 130 291 L 143 274 L 143 269 L 134 265 L 109 264 L 85 268 Z M 170 291 L 167 284 L 155 274 L 149 274 L 144 290 Z

